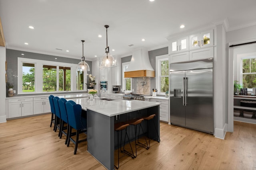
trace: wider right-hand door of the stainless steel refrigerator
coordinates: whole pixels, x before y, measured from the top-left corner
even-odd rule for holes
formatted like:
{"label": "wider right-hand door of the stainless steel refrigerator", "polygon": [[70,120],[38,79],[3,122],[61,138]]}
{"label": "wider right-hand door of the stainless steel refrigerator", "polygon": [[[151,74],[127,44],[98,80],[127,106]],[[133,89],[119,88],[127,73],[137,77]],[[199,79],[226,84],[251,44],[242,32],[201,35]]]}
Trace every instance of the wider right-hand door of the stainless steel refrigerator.
{"label": "wider right-hand door of the stainless steel refrigerator", "polygon": [[186,71],[186,127],[213,133],[212,68]]}

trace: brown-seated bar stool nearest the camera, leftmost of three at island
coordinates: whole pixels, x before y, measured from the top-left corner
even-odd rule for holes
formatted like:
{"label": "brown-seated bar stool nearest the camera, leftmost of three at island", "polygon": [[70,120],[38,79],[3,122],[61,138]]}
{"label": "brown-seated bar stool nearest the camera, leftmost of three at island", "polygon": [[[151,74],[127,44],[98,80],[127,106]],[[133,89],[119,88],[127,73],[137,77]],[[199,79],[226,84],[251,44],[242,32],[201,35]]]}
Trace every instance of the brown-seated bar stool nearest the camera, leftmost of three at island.
{"label": "brown-seated bar stool nearest the camera, leftmost of three at island", "polygon": [[[133,153],[133,150],[132,150],[132,145],[130,143],[130,139],[129,139],[128,134],[127,134],[127,127],[128,126],[129,126],[129,124],[128,123],[124,123],[124,122],[116,123],[114,125],[114,129],[117,132],[117,147],[118,147],[118,166],[115,165],[116,169],[119,168],[119,132],[120,131],[121,131],[120,151],[123,152],[125,155],[131,156],[132,158],[134,158],[134,153]],[[125,150],[124,147],[123,147],[123,150],[121,149],[122,148],[122,131],[123,130],[125,130],[124,145],[125,145],[125,139],[126,139],[126,136],[127,136],[129,144],[130,144],[130,147],[131,147],[131,150],[132,150],[132,154],[130,152],[128,152],[127,150]]]}

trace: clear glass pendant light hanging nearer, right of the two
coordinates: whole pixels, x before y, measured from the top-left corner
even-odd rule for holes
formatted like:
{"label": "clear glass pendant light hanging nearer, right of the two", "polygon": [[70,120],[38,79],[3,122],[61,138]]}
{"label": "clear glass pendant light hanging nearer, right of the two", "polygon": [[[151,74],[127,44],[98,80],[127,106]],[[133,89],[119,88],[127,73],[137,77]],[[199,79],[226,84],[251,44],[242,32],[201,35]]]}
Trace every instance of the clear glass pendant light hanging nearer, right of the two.
{"label": "clear glass pendant light hanging nearer, right of the two", "polygon": [[107,35],[107,47],[105,49],[105,54],[103,57],[100,59],[100,66],[103,67],[112,67],[116,66],[116,61],[114,57],[109,53],[109,47],[108,47],[108,25],[104,26],[106,28],[106,35]]}

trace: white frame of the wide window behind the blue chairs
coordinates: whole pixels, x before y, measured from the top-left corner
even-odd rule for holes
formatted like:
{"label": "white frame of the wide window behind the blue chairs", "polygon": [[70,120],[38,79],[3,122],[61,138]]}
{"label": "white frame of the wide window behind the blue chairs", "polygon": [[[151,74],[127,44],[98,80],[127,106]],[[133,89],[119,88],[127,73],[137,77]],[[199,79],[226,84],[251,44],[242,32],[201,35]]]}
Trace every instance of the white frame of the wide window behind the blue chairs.
{"label": "white frame of the wide window behind the blue chairs", "polygon": [[[22,92],[22,63],[32,63],[35,64],[35,91],[34,92]],[[87,91],[87,76],[86,71],[84,71],[84,89],[83,90],[77,90],[77,82],[76,82],[76,66],[77,64],[71,64],[71,63],[61,63],[61,62],[56,62],[56,61],[45,61],[45,60],[37,60],[37,59],[28,59],[28,58],[23,58],[23,57],[18,57],[18,91],[17,94],[46,94],[49,92],[43,92],[43,65],[52,65],[57,67],[57,72],[56,72],[56,84],[57,84],[57,90],[51,93],[65,93],[65,92],[81,92],[81,91]],[[70,86],[71,90],[70,91],[59,91],[59,66],[64,66],[64,67],[70,67]]]}

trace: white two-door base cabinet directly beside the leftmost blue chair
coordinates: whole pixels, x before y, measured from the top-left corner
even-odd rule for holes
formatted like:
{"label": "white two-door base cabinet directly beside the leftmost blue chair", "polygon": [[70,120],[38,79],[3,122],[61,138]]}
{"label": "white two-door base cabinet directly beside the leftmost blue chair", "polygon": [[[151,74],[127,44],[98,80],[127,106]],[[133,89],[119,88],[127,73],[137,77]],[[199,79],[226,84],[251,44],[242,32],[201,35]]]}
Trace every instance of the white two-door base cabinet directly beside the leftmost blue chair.
{"label": "white two-door base cabinet directly beside the leftmost blue chair", "polygon": [[34,98],[34,115],[40,113],[51,112],[50,102],[48,97],[35,97]]}

